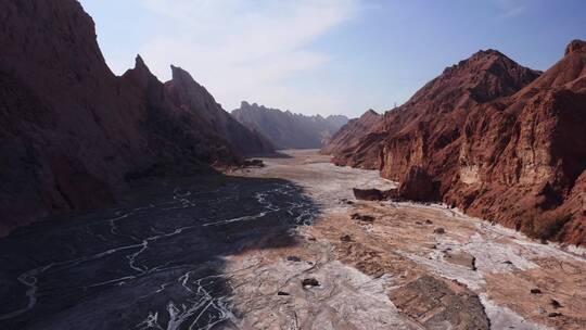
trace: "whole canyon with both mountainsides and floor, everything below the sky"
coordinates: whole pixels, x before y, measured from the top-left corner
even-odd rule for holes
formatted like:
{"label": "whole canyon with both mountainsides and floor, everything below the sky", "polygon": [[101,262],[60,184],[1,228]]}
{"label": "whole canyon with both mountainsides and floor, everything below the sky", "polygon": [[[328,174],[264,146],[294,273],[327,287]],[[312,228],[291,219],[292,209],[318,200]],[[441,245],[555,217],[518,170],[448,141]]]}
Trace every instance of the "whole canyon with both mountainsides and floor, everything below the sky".
{"label": "whole canyon with both mountainsides and floor, everything below the sky", "polygon": [[349,120],[115,75],[76,0],[0,59],[0,329],[586,328],[586,41]]}

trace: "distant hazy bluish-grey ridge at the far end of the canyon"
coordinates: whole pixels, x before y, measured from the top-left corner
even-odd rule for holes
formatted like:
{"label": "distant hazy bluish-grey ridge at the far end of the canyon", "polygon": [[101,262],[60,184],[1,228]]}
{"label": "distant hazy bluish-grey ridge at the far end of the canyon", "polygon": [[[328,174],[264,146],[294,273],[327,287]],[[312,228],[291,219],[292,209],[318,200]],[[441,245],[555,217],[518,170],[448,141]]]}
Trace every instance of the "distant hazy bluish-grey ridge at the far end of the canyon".
{"label": "distant hazy bluish-grey ridge at the far end of the canyon", "polygon": [[345,116],[304,116],[289,111],[242,102],[232,115],[259,131],[278,149],[319,149],[348,122]]}

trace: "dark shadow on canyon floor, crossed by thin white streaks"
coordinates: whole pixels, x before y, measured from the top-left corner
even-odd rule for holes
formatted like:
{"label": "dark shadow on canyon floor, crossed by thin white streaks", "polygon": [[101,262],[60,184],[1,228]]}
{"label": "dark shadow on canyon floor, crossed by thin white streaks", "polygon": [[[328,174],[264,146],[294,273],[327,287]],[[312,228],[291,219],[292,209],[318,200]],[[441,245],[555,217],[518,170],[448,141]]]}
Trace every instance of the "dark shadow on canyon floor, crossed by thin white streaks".
{"label": "dark shadow on canyon floor, crossed by thin white streaks", "polygon": [[291,181],[206,176],[17,229],[0,239],[0,328],[230,328],[222,256],[295,244],[318,208]]}

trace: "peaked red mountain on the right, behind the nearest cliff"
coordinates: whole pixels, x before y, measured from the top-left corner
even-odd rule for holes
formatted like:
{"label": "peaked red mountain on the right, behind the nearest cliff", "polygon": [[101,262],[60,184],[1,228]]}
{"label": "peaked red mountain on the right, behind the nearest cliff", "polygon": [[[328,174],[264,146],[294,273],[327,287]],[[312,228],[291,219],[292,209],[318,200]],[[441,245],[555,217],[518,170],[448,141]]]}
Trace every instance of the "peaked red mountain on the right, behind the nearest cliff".
{"label": "peaked red mountain on the right, behind the nearest cliff", "polygon": [[442,180],[457,166],[462,127],[471,109],[507,97],[534,80],[538,73],[522,67],[498,51],[480,51],[448,67],[405,105],[385,115],[380,168],[400,179],[421,166]]}

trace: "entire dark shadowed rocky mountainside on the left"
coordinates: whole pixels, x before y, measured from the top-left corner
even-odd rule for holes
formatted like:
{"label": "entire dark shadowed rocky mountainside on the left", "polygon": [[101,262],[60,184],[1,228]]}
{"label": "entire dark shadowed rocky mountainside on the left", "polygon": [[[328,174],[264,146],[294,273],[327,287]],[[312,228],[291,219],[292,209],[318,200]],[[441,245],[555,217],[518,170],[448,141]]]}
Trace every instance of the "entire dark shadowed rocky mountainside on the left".
{"label": "entire dark shadowed rocky mountainside on the left", "polygon": [[[165,86],[140,58],[115,76],[77,1],[0,2],[0,231],[111,203],[133,179],[240,160],[209,122],[238,125],[203,88],[181,81],[189,94],[176,98],[179,78]],[[216,113],[186,109],[190,98]],[[267,148],[251,141],[237,147]]]}

